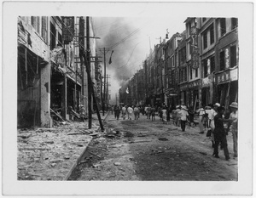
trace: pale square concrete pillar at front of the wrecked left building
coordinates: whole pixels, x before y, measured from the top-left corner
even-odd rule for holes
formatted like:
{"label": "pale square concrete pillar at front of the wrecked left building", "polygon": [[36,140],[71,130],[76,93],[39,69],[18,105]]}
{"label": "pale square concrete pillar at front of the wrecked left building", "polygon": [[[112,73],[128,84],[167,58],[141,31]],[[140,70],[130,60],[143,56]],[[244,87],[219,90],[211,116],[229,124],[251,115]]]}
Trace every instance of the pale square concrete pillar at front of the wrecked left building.
{"label": "pale square concrete pillar at front of the wrecked left building", "polygon": [[41,126],[51,127],[50,125],[50,64],[45,65],[40,70],[41,75]]}

